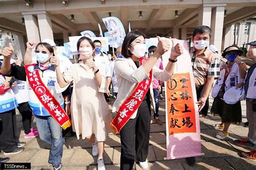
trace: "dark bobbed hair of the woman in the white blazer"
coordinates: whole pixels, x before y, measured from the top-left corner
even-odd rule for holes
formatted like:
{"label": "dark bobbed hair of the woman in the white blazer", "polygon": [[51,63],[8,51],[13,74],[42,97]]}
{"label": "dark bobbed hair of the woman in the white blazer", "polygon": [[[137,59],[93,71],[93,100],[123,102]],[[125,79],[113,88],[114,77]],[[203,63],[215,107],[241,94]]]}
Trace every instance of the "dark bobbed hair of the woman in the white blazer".
{"label": "dark bobbed hair of the woman in the white blazer", "polygon": [[130,58],[132,56],[132,53],[129,50],[129,45],[134,39],[138,38],[139,36],[143,36],[144,38],[146,38],[146,35],[139,30],[134,30],[126,34],[122,45],[122,55],[125,58]]}

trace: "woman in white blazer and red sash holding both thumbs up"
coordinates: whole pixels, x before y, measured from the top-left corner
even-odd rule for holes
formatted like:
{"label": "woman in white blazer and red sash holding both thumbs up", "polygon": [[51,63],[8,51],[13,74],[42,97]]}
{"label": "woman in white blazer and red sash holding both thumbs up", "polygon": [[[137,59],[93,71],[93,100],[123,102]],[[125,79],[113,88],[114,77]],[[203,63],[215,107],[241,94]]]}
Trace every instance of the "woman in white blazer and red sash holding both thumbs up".
{"label": "woman in white blazer and red sash holding both thumbs up", "polygon": [[[156,52],[148,60],[144,60],[145,37],[138,30],[127,33],[122,46],[124,58],[118,58],[114,65],[119,91],[112,109],[112,112],[117,112],[117,116],[111,122],[111,128],[116,133],[120,132],[120,169],[132,169],[135,157],[143,169],[148,167],[146,159],[153,97],[152,75],[161,81],[170,80],[177,57],[183,53],[180,44],[173,45],[170,62],[164,70],[160,70],[154,65],[169,50],[170,39],[158,37]],[[154,103],[153,100],[152,102]]]}

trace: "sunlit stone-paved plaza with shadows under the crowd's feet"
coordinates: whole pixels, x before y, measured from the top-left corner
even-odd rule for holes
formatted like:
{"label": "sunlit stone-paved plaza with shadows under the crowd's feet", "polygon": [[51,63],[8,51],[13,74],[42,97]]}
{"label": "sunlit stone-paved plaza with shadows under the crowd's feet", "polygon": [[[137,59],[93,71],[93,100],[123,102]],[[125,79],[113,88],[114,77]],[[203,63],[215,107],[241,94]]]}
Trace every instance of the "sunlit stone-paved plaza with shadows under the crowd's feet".
{"label": "sunlit stone-paved plaza with shadows under the crowd's feet", "polygon": [[[212,104],[212,99],[210,103]],[[165,122],[165,101],[160,101],[160,119]],[[242,122],[245,118],[245,101],[242,101]],[[256,162],[240,157],[245,148],[234,145],[233,139],[247,136],[248,128],[242,125],[231,125],[230,137],[226,140],[215,138],[219,130],[212,128],[212,124],[220,122],[219,117],[207,116],[200,118],[202,155],[197,157],[197,164],[193,167],[186,164],[185,159],[165,160],[166,133],[165,123],[151,124],[149,169],[256,169]],[[25,141],[25,150],[17,155],[11,155],[9,162],[31,162],[32,169],[52,169],[48,164],[50,145],[37,138],[25,139],[22,130],[22,117],[17,115],[18,132],[20,141]],[[35,124],[33,124],[35,126]],[[193,147],[193,146],[191,146]],[[106,169],[119,169],[120,166],[120,136],[112,133],[105,143],[104,161]],[[86,140],[77,140],[70,133],[66,135],[62,169],[97,169],[97,157],[92,157],[92,146]],[[3,153],[0,157],[4,157]],[[141,169],[137,165],[137,169]]]}

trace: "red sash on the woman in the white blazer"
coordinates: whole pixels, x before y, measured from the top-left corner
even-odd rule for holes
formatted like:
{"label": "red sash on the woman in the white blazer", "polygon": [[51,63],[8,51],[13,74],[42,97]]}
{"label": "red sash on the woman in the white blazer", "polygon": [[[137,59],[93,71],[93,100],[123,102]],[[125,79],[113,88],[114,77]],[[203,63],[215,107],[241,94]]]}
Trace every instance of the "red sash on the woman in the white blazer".
{"label": "red sash on the woman in the white blazer", "polygon": [[[139,60],[139,65],[141,66],[144,59]],[[147,94],[147,90],[150,88],[152,81],[152,70],[150,71],[150,77],[148,80],[143,80],[138,83],[136,89],[133,91],[130,97],[128,97],[124,103],[120,106],[117,116],[114,117],[110,123],[110,128],[114,130],[114,134],[120,132],[123,126],[129,121],[134,112],[142,104],[144,97]]]}

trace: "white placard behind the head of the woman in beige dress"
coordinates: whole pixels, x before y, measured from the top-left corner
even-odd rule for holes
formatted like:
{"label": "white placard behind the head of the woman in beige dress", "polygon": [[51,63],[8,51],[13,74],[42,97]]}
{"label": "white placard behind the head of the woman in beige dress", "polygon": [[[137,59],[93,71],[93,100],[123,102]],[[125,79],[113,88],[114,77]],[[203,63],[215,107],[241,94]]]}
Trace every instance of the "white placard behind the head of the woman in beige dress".
{"label": "white placard behind the head of the woman in beige dress", "polygon": [[[69,37],[71,53],[79,54],[77,51],[77,41],[81,37],[83,37],[83,36]],[[109,51],[109,38],[107,38],[107,37],[91,37],[90,39],[92,40],[92,42],[94,40],[100,40],[100,42],[102,42],[102,50],[101,51],[103,51],[103,52]],[[73,55],[75,55],[75,54],[73,54]]]}

